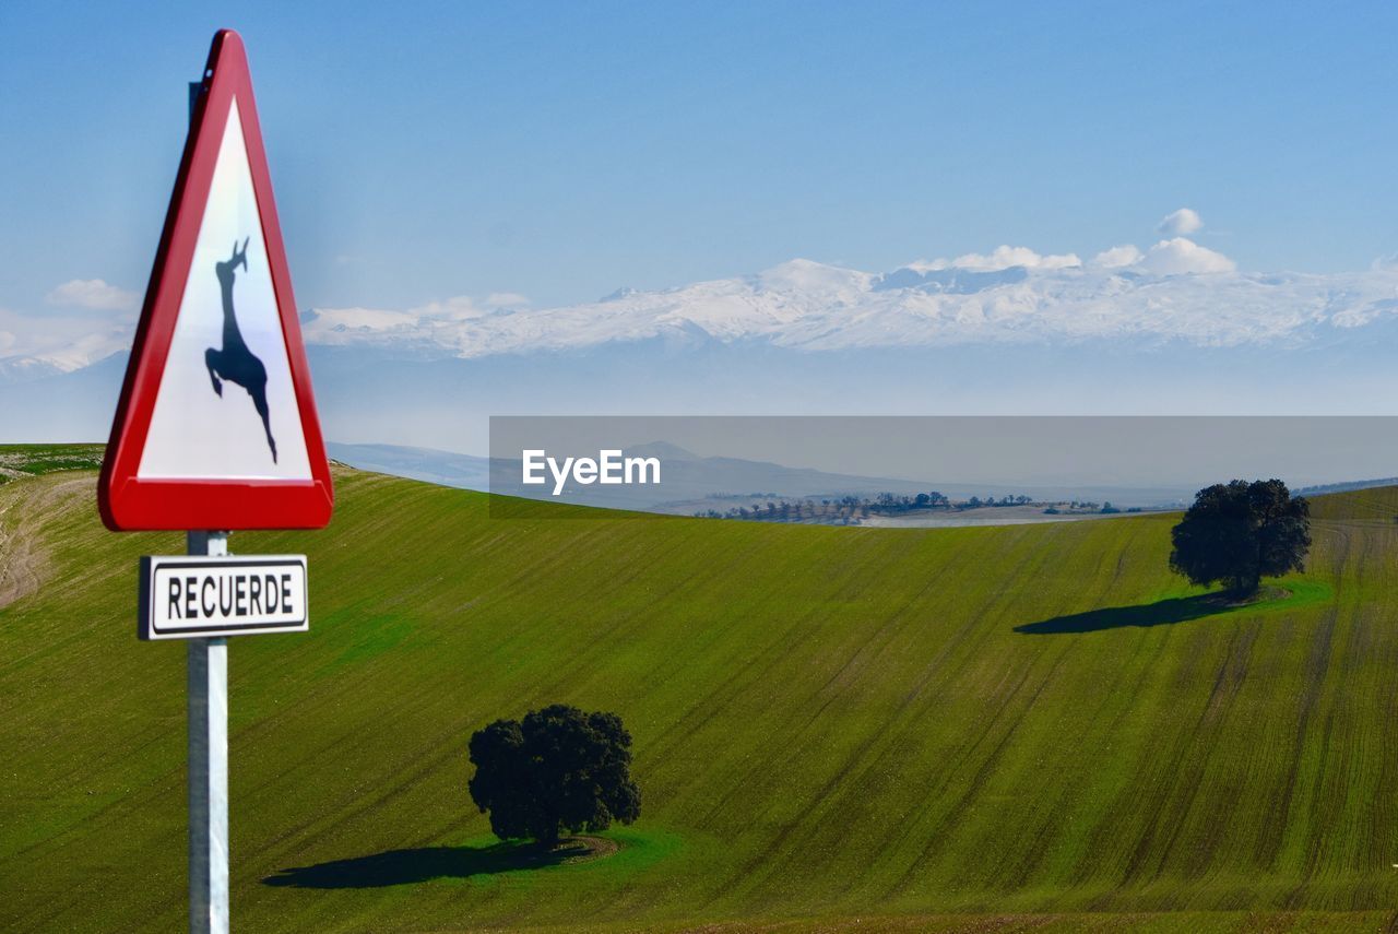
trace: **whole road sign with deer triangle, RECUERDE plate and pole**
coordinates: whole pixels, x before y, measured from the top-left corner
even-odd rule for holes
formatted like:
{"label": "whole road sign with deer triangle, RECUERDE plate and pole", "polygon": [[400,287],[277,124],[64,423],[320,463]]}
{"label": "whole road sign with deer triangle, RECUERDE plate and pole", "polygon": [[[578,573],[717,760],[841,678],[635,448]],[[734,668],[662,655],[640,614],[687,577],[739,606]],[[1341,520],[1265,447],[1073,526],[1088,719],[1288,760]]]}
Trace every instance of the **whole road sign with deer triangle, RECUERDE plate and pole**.
{"label": "whole road sign with deer triangle, RECUERDE plate and pole", "polygon": [[334,488],[247,56],[214,36],[98,481],[113,531],[183,529],[143,558],[140,635],[187,639],[189,924],[228,933],[228,640],[308,628],[302,555],[229,558],[233,529],[320,529]]}

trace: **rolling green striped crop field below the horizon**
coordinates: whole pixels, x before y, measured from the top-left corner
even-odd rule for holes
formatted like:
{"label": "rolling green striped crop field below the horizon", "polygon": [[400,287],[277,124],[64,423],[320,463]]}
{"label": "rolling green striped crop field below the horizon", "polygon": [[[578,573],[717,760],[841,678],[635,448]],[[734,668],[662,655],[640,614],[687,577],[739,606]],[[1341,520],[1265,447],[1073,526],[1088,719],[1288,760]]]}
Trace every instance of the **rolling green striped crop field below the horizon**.
{"label": "rolling green striped crop field below the horizon", "polygon": [[[590,513],[340,471],[308,635],[229,652],[233,924],[1385,930],[1398,489],[1316,501],[1289,597],[1218,611],[1172,516],[878,530]],[[185,924],[185,647],[138,643],[95,474],[0,487],[0,928]],[[622,714],[643,817],[538,867],[466,741]]]}

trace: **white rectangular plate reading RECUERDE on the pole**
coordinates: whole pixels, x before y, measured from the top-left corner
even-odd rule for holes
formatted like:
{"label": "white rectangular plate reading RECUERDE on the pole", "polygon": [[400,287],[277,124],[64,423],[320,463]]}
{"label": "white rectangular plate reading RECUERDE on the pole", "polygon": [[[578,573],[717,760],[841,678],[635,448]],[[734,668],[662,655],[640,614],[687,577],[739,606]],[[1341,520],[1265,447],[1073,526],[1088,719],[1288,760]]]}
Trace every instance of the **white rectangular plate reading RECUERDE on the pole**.
{"label": "white rectangular plate reading RECUERDE on the pole", "polygon": [[309,628],[305,555],[141,558],[141,639]]}

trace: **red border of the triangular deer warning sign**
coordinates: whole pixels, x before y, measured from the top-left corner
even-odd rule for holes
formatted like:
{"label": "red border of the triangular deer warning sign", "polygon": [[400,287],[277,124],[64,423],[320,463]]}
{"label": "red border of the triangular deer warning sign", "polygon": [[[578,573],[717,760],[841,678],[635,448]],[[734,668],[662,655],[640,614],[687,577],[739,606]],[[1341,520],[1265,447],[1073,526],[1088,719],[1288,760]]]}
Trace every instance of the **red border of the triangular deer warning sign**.
{"label": "red border of the triangular deer warning sign", "polygon": [[[334,485],[310,389],[310,368],[301,340],[296,299],[291,291],[281,225],[267,172],[257,106],[242,38],[232,29],[214,36],[204,67],[204,89],[194,108],[189,140],[180,159],[175,192],[165,215],[145,305],[136,329],[126,380],[112,421],[112,436],[98,481],[98,509],[113,531],[322,529],[334,509]],[[214,166],[233,101],[243,126],[253,196],[261,218],[263,242],[281,315],[291,382],[301,410],[301,426],[310,460],[306,480],[150,480],[137,477],[141,453],[169,355],[179,306],[185,298],[203,225]]]}

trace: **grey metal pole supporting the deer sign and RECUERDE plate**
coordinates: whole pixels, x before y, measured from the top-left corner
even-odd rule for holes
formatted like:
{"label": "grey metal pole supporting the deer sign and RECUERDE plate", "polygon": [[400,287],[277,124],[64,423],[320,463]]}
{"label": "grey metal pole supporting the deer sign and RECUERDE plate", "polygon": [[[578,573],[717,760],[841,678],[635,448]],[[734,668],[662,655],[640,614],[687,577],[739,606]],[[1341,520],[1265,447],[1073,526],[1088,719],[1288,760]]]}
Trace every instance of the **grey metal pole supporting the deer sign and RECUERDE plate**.
{"label": "grey metal pole supporting the deer sign and RECUERDE plate", "polygon": [[[187,533],[226,555],[228,533]],[[189,930],[228,934],[228,640],[189,640]]]}

